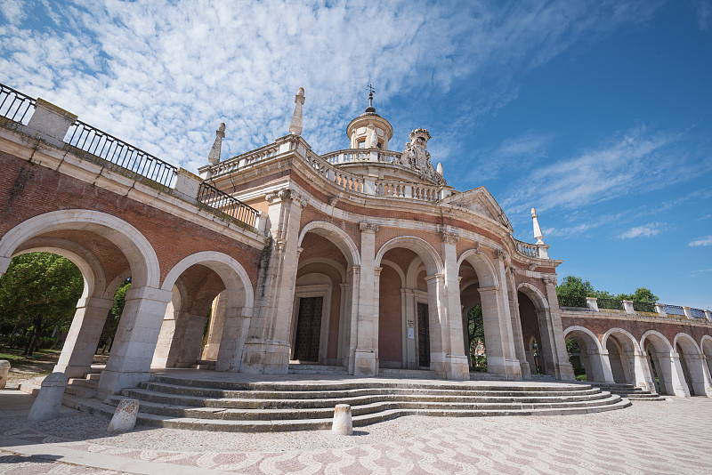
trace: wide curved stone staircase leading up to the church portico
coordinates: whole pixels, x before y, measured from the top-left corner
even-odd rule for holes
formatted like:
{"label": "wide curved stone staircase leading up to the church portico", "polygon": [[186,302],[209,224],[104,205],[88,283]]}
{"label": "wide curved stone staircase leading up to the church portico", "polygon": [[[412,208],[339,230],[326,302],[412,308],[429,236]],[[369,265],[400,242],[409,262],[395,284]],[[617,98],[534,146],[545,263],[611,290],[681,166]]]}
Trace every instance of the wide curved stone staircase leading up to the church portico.
{"label": "wide curved stone staircase leading up to the church portico", "polygon": [[401,415],[568,415],[630,406],[580,384],[535,382],[226,382],[154,375],[110,396],[91,412],[113,415],[121,399],[139,399],[138,423],[201,431],[300,431],[331,427],[336,404],[352,407],[360,427]]}

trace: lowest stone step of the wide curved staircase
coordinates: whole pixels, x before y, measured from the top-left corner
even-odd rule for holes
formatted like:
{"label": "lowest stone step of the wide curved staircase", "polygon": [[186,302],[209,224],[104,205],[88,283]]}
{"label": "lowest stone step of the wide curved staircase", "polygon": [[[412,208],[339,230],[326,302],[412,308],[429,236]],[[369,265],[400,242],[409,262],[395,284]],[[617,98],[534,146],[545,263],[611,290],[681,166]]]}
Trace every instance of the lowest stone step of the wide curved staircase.
{"label": "lowest stone step of the wide curved staircase", "polygon": [[[611,398],[616,398],[611,396]],[[622,409],[631,405],[627,399],[617,399],[615,402],[588,407],[564,408],[536,408],[536,409],[387,409],[368,415],[355,415],[353,426],[362,427],[371,423],[400,417],[402,415],[430,415],[430,416],[459,416],[478,417],[494,415],[580,415]],[[83,409],[84,410],[84,409]],[[111,417],[113,407],[106,404],[86,407],[87,412],[96,415]],[[333,414],[333,413],[332,413]],[[256,432],[256,431],[300,431],[300,430],[326,430],[331,427],[331,416],[323,419],[311,420],[271,420],[271,421],[234,421],[223,419],[196,419],[192,417],[173,417],[166,415],[153,415],[140,412],[138,423],[152,427],[166,427],[174,429],[188,429],[193,431],[230,431],[230,432]]]}

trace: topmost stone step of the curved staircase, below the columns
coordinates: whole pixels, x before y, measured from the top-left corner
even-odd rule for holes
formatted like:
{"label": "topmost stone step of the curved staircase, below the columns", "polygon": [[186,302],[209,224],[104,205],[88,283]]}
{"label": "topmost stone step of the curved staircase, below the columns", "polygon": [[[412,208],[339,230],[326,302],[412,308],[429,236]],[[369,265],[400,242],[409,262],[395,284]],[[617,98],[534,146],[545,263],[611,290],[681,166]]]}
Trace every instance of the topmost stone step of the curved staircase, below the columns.
{"label": "topmost stone step of the curved staircase, below the columns", "polygon": [[[158,381],[154,381],[158,380]],[[513,390],[512,388],[502,388],[494,390],[492,388],[453,388],[452,389],[436,389],[432,386],[424,386],[420,388],[403,388],[398,385],[389,385],[388,387],[360,387],[358,389],[347,390],[320,390],[319,385],[316,385],[316,390],[223,390],[209,387],[186,386],[181,383],[162,382],[163,378],[152,378],[150,382],[142,382],[140,388],[143,390],[154,390],[158,392],[166,392],[182,396],[194,396],[200,398],[212,399],[346,399],[360,396],[374,396],[382,394],[391,395],[412,395],[421,398],[426,397],[462,397],[462,396],[478,396],[478,397],[570,397],[580,396],[586,397],[593,394],[601,394],[602,391],[597,388],[585,388],[582,386],[574,387],[570,390]],[[198,382],[201,383],[201,382]],[[361,384],[363,386],[363,384]],[[300,386],[299,389],[303,389]]]}

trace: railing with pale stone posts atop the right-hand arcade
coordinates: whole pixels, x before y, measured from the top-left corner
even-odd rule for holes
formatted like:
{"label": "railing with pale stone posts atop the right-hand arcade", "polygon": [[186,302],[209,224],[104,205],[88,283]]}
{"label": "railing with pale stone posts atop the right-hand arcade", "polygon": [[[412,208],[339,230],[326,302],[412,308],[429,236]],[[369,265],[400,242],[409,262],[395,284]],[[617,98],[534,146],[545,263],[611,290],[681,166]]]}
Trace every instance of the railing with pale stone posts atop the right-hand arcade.
{"label": "railing with pale stone posts atop the right-hand arcade", "polygon": [[[572,302],[576,302],[576,306],[569,306]],[[586,306],[584,307],[583,304],[583,299],[559,299],[559,305],[565,310],[626,313],[628,315],[641,315],[643,317],[712,323],[712,311],[681,307],[679,305],[667,305],[658,302],[597,299],[595,297],[586,297]]]}

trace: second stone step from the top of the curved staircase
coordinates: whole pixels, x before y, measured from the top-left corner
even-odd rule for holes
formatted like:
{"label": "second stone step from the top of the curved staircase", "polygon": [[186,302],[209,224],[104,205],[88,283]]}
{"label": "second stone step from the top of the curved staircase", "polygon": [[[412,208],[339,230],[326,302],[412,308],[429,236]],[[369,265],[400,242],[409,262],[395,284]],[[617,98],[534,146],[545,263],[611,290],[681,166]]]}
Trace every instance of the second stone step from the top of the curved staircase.
{"label": "second stone step from the top of the curved staircase", "polygon": [[172,404],[187,407],[221,407],[221,408],[245,408],[245,409],[272,409],[272,408],[330,408],[336,404],[349,404],[351,406],[371,404],[375,402],[432,402],[432,403],[458,403],[458,404],[478,404],[478,403],[498,403],[498,404],[554,404],[565,403],[571,399],[579,401],[592,401],[605,399],[609,393],[596,392],[587,395],[567,396],[442,396],[442,395],[413,395],[413,394],[368,394],[364,396],[328,398],[328,399],[234,399],[217,397],[206,397],[206,395],[189,396],[185,394],[176,395],[166,391],[166,386],[147,384],[144,389],[127,389],[122,394],[129,398],[140,399],[147,402],[161,404]]}

